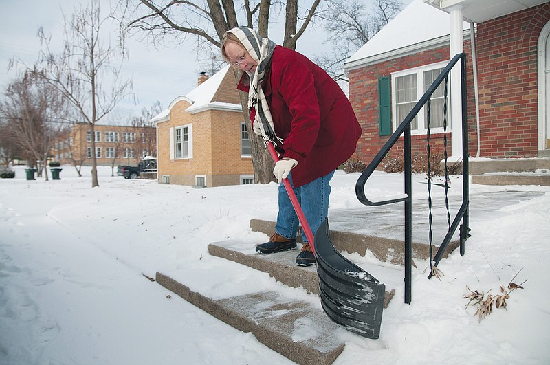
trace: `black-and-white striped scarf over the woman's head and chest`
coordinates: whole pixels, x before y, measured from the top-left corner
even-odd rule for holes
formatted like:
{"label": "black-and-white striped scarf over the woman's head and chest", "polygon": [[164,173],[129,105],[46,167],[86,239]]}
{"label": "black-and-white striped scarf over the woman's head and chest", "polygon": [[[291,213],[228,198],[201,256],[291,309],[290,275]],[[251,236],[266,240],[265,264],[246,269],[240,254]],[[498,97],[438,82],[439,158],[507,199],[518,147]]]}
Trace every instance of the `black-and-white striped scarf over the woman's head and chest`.
{"label": "black-and-white striped scarf over the woman's head and chest", "polygon": [[282,145],[281,138],[278,138],[275,134],[270,106],[267,104],[265,94],[261,88],[263,79],[265,78],[265,71],[270,65],[276,44],[269,38],[262,38],[255,30],[248,27],[234,27],[232,30],[228,30],[228,32],[233,33],[239,38],[246,52],[258,63],[254,75],[248,75],[250,77],[248,110],[250,111],[252,108],[256,110],[254,124],[259,123],[262,136],[265,140],[274,142],[276,146]]}

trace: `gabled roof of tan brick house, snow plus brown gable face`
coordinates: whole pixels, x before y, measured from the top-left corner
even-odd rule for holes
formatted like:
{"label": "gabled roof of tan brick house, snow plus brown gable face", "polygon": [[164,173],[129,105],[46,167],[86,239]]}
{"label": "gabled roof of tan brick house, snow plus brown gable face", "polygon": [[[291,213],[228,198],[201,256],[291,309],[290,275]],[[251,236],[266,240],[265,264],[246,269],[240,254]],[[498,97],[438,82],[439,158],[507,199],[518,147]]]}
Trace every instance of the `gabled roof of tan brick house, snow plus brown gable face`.
{"label": "gabled roof of tan brick house, snow plus brown gable face", "polygon": [[151,118],[151,122],[166,122],[170,120],[170,111],[180,101],[191,104],[186,111],[188,113],[200,113],[206,110],[242,111],[239,103],[239,95],[236,91],[236,80],[230,71],[229,65],[223,67],[214,76],[208,78],[201,85],[192,89],[184,96],[177,96],[168,109],[164,109],[158,115]]}

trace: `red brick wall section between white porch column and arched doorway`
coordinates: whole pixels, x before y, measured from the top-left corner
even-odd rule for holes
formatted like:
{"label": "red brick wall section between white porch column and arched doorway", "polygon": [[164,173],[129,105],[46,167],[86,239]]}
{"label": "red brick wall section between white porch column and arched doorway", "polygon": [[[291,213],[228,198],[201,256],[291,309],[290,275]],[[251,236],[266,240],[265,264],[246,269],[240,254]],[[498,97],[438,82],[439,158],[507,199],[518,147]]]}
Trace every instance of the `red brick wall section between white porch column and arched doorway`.
{"label": "red brick wall section between white porch column and arched doorway", "polygon": [[546,3],[478,25],[482,157],[537,155],[537,42],[549,19]]}

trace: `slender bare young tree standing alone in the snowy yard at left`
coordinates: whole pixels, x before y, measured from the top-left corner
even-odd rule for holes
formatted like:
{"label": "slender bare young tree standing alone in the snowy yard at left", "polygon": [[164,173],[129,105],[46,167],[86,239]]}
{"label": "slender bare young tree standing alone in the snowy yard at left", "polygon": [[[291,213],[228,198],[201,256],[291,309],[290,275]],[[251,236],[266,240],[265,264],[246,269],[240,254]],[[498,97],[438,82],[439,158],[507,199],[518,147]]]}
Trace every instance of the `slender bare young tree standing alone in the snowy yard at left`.
{"label": "slender bare young tree standing alone in the snowy yard at left", "polygon": [[[43,49],[34,65],[36,75],[61,91],[80,120],[89,125],[91,151],[96,151],[94,126],[131,90],[130,80],[120,80],[122,49],[107,42],[109,19],[102,17],[98,0],[75,9],[70,19],[65,17],[65,39],[59,54],[50,50],[50,38],[39,30]],[[120,60],[118,66],[113,65],[114,60]],[[95,187],[99,186],[95,153],[91,161],[91,186]]]}

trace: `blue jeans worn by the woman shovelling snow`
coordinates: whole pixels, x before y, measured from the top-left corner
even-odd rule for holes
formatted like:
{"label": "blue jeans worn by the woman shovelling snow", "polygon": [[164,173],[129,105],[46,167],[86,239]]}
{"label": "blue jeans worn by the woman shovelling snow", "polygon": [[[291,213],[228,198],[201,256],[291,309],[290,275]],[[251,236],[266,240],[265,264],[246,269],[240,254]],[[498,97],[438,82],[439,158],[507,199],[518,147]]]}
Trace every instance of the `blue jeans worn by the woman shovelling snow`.
{"label": "blue jeans worn by the woman shovelling snow", "polygon": [[[319,177],[318,179],[311,181],[309,184],[294,188],[292,184],[292,173],[288,175],[288,179],[292,188],[294,188],[294,194],[300,202],[300,206],[309,223],[311,232],[315,235],[317,229],[329,214],[329,195],[331,194],[331,186],[329,182],[334,175],[334,171]],[[279,184],[279,212],[277,214],[277,223],[275,225],[275,232],[287,239],[293,239],[298,232],[298,215],[294,211],[292,201],[288,197],[287,190],[283,183]],[[303,241],[308,242],[305,232],[302,234]]]}

